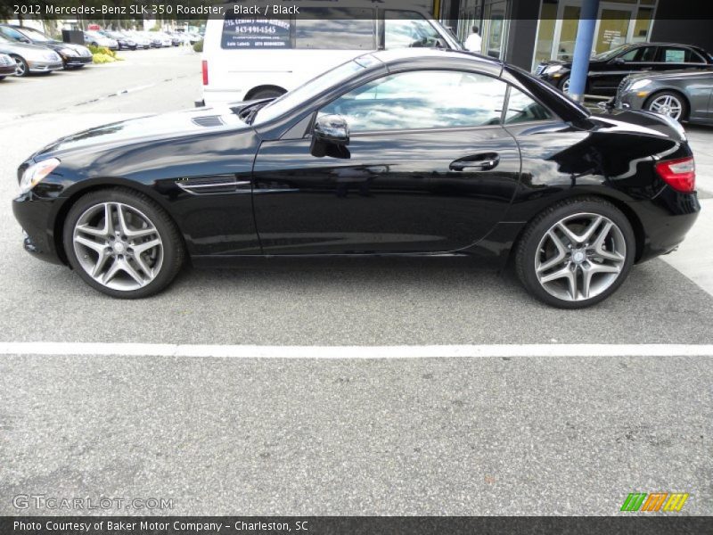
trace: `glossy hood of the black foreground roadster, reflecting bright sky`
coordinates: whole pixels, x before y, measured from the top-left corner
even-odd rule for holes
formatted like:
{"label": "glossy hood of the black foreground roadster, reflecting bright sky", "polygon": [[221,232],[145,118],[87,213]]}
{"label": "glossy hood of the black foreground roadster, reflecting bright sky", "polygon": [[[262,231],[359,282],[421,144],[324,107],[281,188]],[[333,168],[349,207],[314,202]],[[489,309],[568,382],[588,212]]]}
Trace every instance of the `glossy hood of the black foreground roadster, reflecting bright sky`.
{"label": "glossy hood of the black foreground roadster, reflecting bright sky", "polygon": [[128,119],[62,137],[32,155],[35,161],[72,152],[101,151],[146,141],[179,138],[211,131],[249,130],[252,127],[228,107],[196,108]]}

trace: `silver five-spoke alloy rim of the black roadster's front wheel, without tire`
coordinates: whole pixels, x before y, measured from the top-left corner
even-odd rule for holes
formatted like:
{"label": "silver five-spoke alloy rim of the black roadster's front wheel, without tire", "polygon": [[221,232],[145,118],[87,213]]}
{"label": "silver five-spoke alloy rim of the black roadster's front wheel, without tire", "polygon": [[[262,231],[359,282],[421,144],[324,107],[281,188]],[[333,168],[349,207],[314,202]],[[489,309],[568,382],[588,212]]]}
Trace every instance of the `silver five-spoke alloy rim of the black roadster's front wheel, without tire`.
{"label": "silver five-spoke alloy rim of the black roadster's front wheel, without tire", "polygon": [[72,236],[79,264],[102,286],[128,292],[159,275],[159,231],[151,219],[127,204],[95,204],[78,218]]}

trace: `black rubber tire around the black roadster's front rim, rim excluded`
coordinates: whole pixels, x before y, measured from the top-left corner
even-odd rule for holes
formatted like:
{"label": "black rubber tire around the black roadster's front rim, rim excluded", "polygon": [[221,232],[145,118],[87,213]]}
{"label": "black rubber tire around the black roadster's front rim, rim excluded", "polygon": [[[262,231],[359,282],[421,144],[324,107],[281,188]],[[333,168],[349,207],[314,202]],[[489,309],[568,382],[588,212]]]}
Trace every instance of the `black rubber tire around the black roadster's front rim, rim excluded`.
{"label": "black rubber tire around the black roadster's front rim, rim excluded", "polygon": [[[86,210],[103,202],[121,202],[135,210],[140,210],[156,227],[163,245],[163,260],[160,271],[153,280],[135,290],[117,290],[98,283],[80,264],[73,246],[74,227]],[[120,299],[140,299],[148,297],[165,289],[176,277],[184,264],[184,242],[173,220],[156,202],[144,195],[126,188],[102,189],[86,193],[72,206],[64,221],[62,232],[64,251],[70,261],[70,266],[86,284],[99,292]]]}

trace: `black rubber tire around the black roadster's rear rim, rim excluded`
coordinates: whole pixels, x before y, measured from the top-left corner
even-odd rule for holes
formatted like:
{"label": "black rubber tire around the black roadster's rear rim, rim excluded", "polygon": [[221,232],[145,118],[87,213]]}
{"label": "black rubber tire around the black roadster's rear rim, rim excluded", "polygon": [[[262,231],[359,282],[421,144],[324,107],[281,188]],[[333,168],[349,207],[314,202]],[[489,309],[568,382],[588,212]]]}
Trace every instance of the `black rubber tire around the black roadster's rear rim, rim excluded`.
{"label": "black rubber tire around the black roadster's rear rim, rim excluded", "polygon": [[[543,284],[540,284],[536,271],[537,255],[541,252],[538,251],[538,247],[545,238],[545,234],[558,221],[584,213],[604,216],[618,226],[624,243],[626,243],[626,254],[623,255],[624,259],[618,276],[605,290],[589,299],[565,300],[548,292]],[[529,223],[517,244],[515,268],[518,278],[520,278],[520,282],[525,286],[525,289],[538,300],[560,309],[584,309],[607,299],[617,291],[619,286],[626,280],[634,264],[635,250],[634,230],[627,217],[617,207],[611,202],[604,201],[598,197],[578,197],[554,204]]]}

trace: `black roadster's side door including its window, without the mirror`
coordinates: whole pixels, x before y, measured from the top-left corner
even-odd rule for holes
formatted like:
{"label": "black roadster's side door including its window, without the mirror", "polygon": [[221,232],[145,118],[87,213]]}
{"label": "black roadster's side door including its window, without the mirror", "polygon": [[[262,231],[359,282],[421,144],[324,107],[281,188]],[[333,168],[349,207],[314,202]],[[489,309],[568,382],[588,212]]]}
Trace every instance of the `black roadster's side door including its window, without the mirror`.
{"label": "black roadster's side door including its window, without the mirror", "polygon": [[386,75],[317,111],[348,121],[341,157],[309,135],[265,142],[253,203],[266,254],[456,251],[503,218],[520,153],[501,125],[506,84],[461,70]]}

